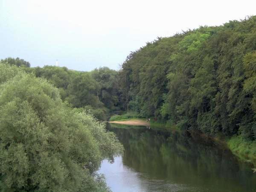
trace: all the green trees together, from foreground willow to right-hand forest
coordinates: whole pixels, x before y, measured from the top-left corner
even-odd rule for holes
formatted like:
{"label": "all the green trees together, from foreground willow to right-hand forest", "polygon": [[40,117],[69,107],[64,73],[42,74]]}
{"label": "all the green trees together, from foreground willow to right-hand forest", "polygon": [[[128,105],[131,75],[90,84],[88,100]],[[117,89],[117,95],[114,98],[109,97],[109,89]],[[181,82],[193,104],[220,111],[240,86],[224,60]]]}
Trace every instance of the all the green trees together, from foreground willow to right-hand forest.
{"label": "all the green trees together, from foreground willow to right-hand forest", "polygon": [[[118,71],[33,68],[20,58],[1,63],[0,189],[104,188],[93,174],[122,146],[96,119],[120,112],[181,130],[256,140],[256,16],[157,38],[131,52]],[[40,166],[29,166],[35,161]]]}

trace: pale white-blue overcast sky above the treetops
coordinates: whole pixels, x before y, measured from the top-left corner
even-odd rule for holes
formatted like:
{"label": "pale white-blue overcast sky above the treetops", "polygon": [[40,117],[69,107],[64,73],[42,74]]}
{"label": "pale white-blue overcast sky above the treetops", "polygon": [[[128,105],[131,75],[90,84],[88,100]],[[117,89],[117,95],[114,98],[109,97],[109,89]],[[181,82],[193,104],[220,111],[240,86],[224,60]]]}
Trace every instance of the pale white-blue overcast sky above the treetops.
{"label": "pale white-blue overcast sky above the treetops", "polygon": [[118,69],[157,37],[256,15],[255,0],[0,0],[0,58]]}

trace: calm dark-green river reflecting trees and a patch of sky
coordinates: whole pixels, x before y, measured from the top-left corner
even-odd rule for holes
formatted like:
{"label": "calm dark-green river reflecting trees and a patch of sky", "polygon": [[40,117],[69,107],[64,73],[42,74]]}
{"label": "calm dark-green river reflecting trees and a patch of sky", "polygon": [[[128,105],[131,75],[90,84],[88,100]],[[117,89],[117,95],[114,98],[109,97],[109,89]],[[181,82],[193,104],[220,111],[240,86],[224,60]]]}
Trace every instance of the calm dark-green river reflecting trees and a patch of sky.
{"label": "calm dark-green river reflecting trees and a patch of sky", "polygon": [[254,192],[252,165],[226,147],[188,133],[108,125],[124,145],[99,173],[113,192]]}

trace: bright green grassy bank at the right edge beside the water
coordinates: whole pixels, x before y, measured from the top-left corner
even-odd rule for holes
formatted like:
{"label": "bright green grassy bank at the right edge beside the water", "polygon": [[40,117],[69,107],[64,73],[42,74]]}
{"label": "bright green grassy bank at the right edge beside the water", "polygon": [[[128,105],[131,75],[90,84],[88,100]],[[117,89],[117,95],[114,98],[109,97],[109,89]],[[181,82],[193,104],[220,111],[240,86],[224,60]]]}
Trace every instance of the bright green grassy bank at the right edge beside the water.
{"label": "bright green grassy bank at the right edge beside the water", "polygon": [[253,163],[256,167],[256,141],[244,140],[241,136],[233,136],[227,140],[230,150],[241,160]]}

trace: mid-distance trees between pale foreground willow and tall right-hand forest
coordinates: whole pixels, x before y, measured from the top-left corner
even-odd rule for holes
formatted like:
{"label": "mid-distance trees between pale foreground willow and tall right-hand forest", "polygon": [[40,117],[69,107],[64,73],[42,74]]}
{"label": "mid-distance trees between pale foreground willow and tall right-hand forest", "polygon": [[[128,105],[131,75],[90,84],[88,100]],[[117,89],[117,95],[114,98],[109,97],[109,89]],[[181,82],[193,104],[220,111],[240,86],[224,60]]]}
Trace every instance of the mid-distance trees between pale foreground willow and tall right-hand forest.
{"label": "mid-distance trees between pale foreground willow and tall right-hand forest", "polygon": [[118,72],[108,67],[91,72],[53,66],[26,68],[26,71],[47,79],[58,87],[61,99],[75,108],[90,110],[97,119],[107,120],[112,112],[120,111]]}

